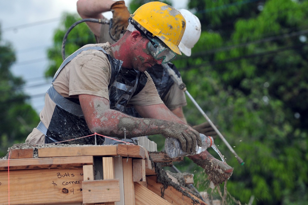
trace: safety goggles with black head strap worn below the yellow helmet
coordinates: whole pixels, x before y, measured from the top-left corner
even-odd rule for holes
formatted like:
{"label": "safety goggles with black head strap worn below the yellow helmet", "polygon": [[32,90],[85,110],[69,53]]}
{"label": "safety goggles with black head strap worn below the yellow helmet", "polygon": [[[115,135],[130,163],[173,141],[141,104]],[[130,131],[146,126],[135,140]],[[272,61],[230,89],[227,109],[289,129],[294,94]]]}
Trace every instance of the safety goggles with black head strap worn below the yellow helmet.
{"label": "safety goggles with black head strap worn below the yellow helmet", "polygon": [[133,28],[135,28],[142,36],[147,37],[150,40],[147,44],[147,49],[156,60],[163,59],[162,64],[166,64],[176,57],[176,53],[168,48],[163,41],[154,36],[151,32],[142,30],[143,27],[136,23],[132,17],[128,19],[128,23],[128,31],[133,31]]}

